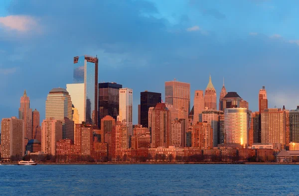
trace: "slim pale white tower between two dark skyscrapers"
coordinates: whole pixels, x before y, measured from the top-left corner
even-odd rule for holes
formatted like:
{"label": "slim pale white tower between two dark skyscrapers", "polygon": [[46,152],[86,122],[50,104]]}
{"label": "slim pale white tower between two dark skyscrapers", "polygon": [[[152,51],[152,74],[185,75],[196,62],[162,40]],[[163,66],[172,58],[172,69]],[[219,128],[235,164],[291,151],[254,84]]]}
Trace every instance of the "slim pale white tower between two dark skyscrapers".
{"label": "slim pale white tower between two dark skyscrapers", "polygon": [[120,121],[128,127],[128,132],[133,135],[133,90],[120,89]]}

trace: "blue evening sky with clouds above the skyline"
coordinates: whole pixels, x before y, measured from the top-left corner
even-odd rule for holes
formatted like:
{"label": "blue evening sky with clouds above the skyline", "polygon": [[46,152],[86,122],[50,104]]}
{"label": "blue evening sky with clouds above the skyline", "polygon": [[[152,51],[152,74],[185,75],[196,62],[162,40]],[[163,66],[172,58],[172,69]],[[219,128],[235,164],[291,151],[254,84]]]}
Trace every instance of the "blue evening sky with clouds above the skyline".
{"label": "blue evening sky with clouds above the skyline", "polygon": [[237,92],[258,109],[299,104],[299,2],[290,0],[1,0],[0,118],[17,116],[24,89],[45,116],[55,87],[72,82],[74,56],[98,55],[99,82],[162,93],[176,78]]}

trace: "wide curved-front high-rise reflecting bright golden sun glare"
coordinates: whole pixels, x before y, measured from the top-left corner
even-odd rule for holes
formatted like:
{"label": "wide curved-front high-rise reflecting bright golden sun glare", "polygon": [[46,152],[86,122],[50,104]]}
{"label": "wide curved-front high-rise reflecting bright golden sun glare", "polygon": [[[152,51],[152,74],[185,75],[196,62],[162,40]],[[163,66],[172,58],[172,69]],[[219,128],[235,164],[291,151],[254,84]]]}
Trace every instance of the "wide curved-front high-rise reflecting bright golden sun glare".
{"label": "wide curved-front high-rise reflecting bright golden sun glare", "polygon": [[224,129],[226,144],[248,146],[248,112],[247,108],[225,108]]}

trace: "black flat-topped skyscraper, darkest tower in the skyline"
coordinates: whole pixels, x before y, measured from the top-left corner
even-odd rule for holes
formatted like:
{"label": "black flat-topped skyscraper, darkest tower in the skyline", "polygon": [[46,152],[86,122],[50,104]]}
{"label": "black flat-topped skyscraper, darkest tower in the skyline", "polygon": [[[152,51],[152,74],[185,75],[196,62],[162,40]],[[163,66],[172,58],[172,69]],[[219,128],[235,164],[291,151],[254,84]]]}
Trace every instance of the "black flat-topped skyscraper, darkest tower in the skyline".
{"label": "black flat-topped skyscraper, darkest tower in the skyline", "polygon": [[161,102],[161,94],[153,92],[140,93],[140,123],[143,127],[149,127],[149,107]]}

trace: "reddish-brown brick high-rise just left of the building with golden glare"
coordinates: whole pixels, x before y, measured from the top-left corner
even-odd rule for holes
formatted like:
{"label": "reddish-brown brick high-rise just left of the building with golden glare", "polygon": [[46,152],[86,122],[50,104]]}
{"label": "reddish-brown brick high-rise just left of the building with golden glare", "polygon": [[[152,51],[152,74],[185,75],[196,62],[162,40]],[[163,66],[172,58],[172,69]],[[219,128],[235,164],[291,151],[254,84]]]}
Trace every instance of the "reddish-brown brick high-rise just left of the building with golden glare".
{"label": "reddish-brown brick high-rise just left of the building with golden glare", "polygon": [[213,148],[213,129],[208,122],[196,122],[191,126],[191,146],[201,149]]}

